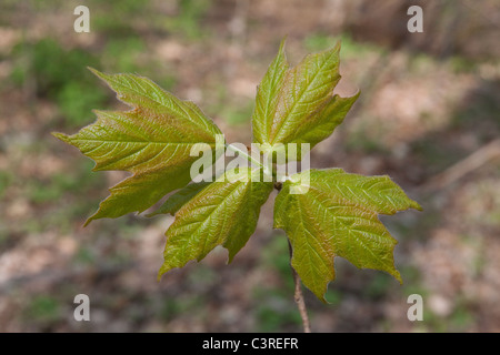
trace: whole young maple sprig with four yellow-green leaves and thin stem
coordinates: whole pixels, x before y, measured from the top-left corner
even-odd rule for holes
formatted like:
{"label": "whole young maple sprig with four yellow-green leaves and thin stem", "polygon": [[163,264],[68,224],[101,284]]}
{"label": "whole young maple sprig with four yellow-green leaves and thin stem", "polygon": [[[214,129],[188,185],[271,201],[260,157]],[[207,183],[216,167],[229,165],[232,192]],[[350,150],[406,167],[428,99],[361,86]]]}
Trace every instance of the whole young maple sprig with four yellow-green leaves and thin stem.
{"label": "whole young maple sprig with four yellow-green leaves and thin stem", "polygon": [[[281,44],[259,85],[252,114],[253,143],[260,143],[264,153],[272,156],[283,144],[314,146],[342,123],[359,93],[350,98],[333,93],[340,80],[339,52],[340,43],[290,68],[284,42]],[[86,224],[141,213],[178,190],[150,214],[176,216],[166,233],[159,276],[191,260],[201,261],[217,245],[229,251],[231,262],[254,232],[260,209],[276,189],[274,227],[288,235],[306,331],[309,325],[300,280],[326,302],[336,256],[360,268],[384,271],[401,282],[393,261],[397,241],[378,215],[421,207],[390,178],[312,169],[290,174],[283,182],[276,166],[262,172],[258,163],[228,170],[214,182],[190,184],[190,169],[198,160],[190,155],[191,149],[204,143],[207,151],[213,151],[219,128],[194,103],[179,100],[147,78],[92,71],[133,109],[96,111],[96,123],[73,135],[54,135],[94,160],[96,171],[133,173],[110,189],[110,196]],[[224,146],[232,149],[226,142]],[[254,161],[246,152],[238,154]]]}

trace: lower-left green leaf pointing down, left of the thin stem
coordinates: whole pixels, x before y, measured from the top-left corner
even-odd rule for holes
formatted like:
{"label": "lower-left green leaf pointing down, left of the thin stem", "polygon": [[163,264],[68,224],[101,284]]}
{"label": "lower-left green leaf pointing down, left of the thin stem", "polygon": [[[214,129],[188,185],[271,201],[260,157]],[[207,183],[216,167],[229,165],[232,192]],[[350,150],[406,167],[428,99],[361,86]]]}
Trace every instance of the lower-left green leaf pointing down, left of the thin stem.
{"label": "lower-left green leaf pointing down, left of the thin stem", "polygon": [[254,174],[260,174],[259,170],[226,172],[176,213],[166,233],[159,276],[190,260],[202,260],[217,245],[224,246],[232,261],[254,232],[260,207],[273,187],[270,182],[257,181]]}

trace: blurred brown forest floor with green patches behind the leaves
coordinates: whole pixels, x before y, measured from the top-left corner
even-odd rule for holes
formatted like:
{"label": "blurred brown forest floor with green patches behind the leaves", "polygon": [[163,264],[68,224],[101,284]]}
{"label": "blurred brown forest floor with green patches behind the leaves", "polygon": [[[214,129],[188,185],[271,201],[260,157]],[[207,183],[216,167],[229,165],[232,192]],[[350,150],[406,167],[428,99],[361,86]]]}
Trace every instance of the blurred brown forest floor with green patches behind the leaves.
{"label": "blurred brown forest floor with green patches behind the leaves", "polygon": [[[316,332],[500,332],[500,6],[414,1],[13,1],[0,6],[0,332],[300,332],[272,199],[226,265],[216,248],[157,282],[170,216],[84,220],[126,175],[50,135],[120,103],[86,68],[137,72],[251,141],[256,87],[287,36],[296,64],[342,40],[341,95],[361,90],[312,168],[389,174],[423,212],[383,219],[391,276],[337,258]],[[76,33],[73,9],[90,9]],[[73,320],[88,294],[91,322]],[[422,322],[407,297],[423,296]]]}

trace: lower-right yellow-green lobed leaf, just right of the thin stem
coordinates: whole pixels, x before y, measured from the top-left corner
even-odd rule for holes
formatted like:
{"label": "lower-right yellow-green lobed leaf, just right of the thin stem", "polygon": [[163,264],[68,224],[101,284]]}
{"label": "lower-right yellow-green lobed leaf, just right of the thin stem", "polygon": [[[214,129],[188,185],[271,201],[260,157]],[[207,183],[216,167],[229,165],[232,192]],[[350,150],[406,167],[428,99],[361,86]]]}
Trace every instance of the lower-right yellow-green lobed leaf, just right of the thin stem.
{"label": "lower-right yellow-green lobed leaf, just right of the thin stem", "polygon": [[[309,174],[307,183],[304,174]],[[274,227],[287,232],[292,266],[303,284],[324,301],[327,285],[334,278],[336,256],[358,267],[388,272],[401,282],[392,255],[397,241],[378,214],[407,209],[421,210],[389,176],[310,170],[284,182],[274,202]]]}

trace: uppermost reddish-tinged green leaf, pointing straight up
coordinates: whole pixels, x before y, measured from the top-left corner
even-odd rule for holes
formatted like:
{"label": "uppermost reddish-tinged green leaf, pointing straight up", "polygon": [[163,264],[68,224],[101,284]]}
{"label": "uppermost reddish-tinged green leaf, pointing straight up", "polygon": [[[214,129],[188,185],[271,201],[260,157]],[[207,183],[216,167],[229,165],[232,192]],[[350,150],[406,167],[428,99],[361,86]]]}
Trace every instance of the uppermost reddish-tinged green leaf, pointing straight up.
{"label": "uppermost reddish-tinged green leaf, pointing straight up", "polygon": [[340,80],[339,51],[340,42],[289,69],[281,43],[259,85],[252,115],[253,142],[263,144],[263,151],[279,143],[310,143],[312,148],[342,122],[359,93],[351,98],[333,94]]}

